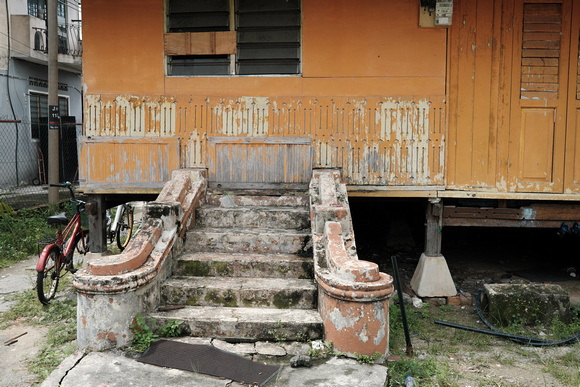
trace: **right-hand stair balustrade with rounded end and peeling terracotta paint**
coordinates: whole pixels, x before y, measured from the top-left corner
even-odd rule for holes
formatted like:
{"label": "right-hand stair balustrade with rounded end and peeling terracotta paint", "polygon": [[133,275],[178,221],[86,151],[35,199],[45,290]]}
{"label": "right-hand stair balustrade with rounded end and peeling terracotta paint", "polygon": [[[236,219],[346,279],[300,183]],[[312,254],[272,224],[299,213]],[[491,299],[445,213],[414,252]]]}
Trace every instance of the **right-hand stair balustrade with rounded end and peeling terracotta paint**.
{"label": "right-hand stair balustrade with rounded end and peeling terracotta paint", "polygon": [[386,354],[393,279],[358,260],[346,186],[336,170],[315,170],[310,211],[318,310],[325,340],[339,352]]}

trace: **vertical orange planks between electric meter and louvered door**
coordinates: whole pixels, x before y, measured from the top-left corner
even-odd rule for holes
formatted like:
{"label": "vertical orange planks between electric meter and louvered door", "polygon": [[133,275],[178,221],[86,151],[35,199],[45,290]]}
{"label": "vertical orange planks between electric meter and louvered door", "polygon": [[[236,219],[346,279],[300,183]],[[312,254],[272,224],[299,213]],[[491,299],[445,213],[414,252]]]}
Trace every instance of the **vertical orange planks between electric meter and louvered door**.
{"label": "vertical orange planks between electric meter and louvered door", "polygon": [[449,164],[452,189],[495,189],[498,162],[500,78],[509,63],[499,45],[509,19],[501,1],[454,4],[450,32]]}

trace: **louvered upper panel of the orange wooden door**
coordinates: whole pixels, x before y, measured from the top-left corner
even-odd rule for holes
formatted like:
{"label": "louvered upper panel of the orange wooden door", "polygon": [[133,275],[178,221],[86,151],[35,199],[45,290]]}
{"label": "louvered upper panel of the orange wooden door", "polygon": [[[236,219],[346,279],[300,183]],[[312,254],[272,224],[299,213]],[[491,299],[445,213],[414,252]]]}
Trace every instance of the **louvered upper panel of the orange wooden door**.
{"label": "louvered upper panel of the orange wooden door", "polygon": [[521,99],[558,99],[562,4],[524,4]]}

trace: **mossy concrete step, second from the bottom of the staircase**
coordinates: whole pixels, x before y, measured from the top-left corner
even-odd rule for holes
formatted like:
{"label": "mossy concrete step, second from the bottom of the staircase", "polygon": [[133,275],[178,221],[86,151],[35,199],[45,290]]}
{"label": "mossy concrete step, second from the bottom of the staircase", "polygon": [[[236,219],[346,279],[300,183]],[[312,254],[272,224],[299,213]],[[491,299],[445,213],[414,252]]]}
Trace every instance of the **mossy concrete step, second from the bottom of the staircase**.
{"label": "mossy concrete step, second from the bottom of the staircase", "polygon": [[180,277],[161,288],[164,305],[228,306],[278,309],[316,308],[313,280],[237,277]]}

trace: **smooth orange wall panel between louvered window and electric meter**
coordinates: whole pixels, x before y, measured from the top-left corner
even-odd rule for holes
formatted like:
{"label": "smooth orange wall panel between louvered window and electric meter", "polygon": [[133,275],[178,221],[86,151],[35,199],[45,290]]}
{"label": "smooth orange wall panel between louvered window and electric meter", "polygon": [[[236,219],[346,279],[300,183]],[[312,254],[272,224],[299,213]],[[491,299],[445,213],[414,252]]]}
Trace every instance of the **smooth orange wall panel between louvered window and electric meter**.
{"label": "smooth orange wall panel between louvered window and electric meter", "polygon": [[304,1],[303,10],[304,77],[445,76],[446,31],[417,27],[418,1]]}

